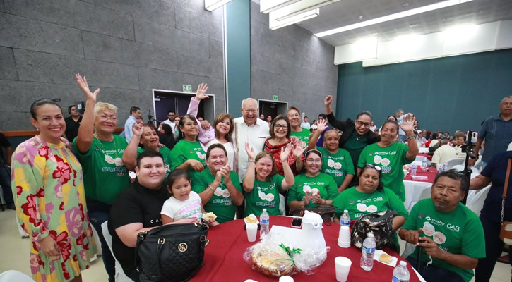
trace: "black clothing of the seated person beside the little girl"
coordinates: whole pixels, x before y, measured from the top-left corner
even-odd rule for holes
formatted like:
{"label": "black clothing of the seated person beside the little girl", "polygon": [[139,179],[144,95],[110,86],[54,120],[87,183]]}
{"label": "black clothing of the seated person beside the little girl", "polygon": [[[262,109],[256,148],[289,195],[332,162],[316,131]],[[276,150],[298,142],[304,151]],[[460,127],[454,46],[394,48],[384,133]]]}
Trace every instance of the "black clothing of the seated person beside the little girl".
{"label": "black clothing of the seated person beside the little girl", "polygon": [[171,195],[165,185],[159,190],[150,190],[136,180],[130,188],[119,193],[112,204],[108,223],[112,235],[112,251],[126,274],[133,273],[135,269],[135,247],[124,245],[115,232],[116,228],[130,223],[142,223],[143,228],[161,226],[160,212],[169,197]]}

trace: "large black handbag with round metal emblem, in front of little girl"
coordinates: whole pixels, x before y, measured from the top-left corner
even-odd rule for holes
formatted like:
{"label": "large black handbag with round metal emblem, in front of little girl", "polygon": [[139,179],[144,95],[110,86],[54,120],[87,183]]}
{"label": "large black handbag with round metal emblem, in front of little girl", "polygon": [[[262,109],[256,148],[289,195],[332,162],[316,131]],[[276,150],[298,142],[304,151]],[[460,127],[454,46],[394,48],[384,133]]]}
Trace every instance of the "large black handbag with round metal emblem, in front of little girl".
{"label": "large black handbag with round metal emblem, in front of little girl", "polygon": [[135,266],[141,282],[188,281],[204,264],[206,223],[168,224],[138,233]]}

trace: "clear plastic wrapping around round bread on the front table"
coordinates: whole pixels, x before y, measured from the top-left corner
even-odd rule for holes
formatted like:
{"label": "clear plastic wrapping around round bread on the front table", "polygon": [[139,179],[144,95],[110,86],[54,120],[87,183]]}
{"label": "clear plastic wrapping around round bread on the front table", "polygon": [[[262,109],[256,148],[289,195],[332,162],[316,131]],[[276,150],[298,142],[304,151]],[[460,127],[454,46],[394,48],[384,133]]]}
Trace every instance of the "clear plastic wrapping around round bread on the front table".
{"label": "clear plastic wrapping around round bread on the front table", "polygon": [[285,236],[270,233],[259,243],[248,247],[244,260],[252,269],[269,276],[285,276],[299,271],[314,274],[327,258],[330,247],[322,249],[297,249]]}

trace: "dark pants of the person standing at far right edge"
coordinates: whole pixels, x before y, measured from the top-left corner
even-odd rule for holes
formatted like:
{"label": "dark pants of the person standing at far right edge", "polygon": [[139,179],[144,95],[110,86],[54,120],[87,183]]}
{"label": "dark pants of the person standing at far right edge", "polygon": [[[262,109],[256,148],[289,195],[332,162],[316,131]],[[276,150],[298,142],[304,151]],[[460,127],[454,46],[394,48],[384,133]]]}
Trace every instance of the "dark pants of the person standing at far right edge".
{"label": "dark pants of the person standing at far right edge", "polygon": [[[504,243],[499,240],[500,224],[480,217],[485,235],[485,257],[478,259],[478,265],[475,269],[475,282],[488,282],[491,279],[492,271],[496,265],[496,259],[501,256]],[[508,256],[508,263],[512,264],[512,259]]]}

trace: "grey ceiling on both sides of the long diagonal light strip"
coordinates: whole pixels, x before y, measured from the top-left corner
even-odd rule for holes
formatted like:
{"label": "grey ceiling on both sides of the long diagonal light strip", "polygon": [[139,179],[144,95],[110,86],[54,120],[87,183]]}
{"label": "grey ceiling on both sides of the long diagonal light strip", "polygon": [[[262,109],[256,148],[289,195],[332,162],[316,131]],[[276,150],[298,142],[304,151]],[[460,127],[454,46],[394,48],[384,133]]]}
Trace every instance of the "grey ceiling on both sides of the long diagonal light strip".
{"label": "grey ceiling on both sides of the long diagonal light strip", "polygon": [[[312,33],[351,25],[392,13],[407,11],[440,0],[342,0],[320,8],[320,16],[299,23]],[[406,4],[407,3],[407,4]],[[473,0],[456,6],[421,13],[407,18],[370,25],[322,37],[333,46],[351,44],[374,35],[391,40],[400,35],[424,35],[463,24],[482,24],[512,19],[512,0]]]}

